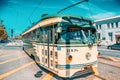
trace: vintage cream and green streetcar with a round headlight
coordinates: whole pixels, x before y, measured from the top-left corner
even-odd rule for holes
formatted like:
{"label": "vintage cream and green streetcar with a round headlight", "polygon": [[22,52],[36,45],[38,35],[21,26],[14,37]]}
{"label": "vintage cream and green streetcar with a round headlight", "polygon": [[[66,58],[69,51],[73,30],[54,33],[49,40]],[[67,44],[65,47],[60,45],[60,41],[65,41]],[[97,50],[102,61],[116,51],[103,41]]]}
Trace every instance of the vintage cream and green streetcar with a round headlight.
{"label": "vintage cream and green streetcar with a round headlight", "polygon": [[23,32],[23,49],[60,77],[97,72],[97,35],[92,20],[72,15],[45,15]]}

